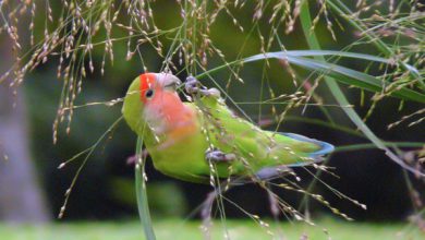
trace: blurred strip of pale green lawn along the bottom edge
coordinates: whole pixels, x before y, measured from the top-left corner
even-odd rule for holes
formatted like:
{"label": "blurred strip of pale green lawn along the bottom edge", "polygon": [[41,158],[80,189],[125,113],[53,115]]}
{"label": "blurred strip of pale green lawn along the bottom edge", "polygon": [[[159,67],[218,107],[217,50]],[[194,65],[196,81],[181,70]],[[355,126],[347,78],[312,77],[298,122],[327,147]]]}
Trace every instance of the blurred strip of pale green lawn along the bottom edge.
{"label": "blurred strip of pale green lawn along the bottom edge", "polygon": [[[231,239],[257,240],[269,239],[266,230],[246,220],[227,220],[227,229]],[[155,221],[158,239],[202,239],[198,221],[185,221],[181,219],[160,219]],[[223,229],[219,221],[215,223],[212,239],[223,239]],[[423,239],[423,232],[413,227],[405,228],[399,224],[371,224],[371,223],[344,223],[328,218],[317,221],[317,226],[301,223],[271,224],[272,229],[279,228],[280,233],[287,239],[343,239],[343,240],[396,240],[396,239]],[[1,226],[0,232],[8,240],[44,239],[53,240],[60,236],[61,240],[139,240],[143,238],[139,223],[78,223],[66,225],[12,227]],[[327,233],[326,233],[327,232]]]}

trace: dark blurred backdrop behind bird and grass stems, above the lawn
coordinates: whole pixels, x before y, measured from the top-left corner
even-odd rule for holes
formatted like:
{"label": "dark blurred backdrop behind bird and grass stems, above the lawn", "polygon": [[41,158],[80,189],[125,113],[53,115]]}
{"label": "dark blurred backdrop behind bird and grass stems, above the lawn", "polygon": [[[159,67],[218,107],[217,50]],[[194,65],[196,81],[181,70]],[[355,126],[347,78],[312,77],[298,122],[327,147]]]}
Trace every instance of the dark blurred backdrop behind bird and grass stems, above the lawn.
{"label": "dark blurred backdrop behind bird and grass stems, above the lawn", "polygon": [[[60,11],[60,1],[52,3],[53,12]],[[351,1],[345,1],[351,4]],[[313,5],[313,11],[318,11],[317,5]],[[179,24],[174,22],[179,15],[175,11],[177,3],[170,1],[158,1],[155,3],[157,13],[157,24],[163,27],[172,27]],[[377,10],[385,11],[385,4],[376,7]],[[252,22],[252,9],[240,10],[238,20],[242,26]],[[42,22],[44,16],[36,22]],[[120,17],[124,17],[120,15]],[[332,21],[340,21],[333,19]],[[179,20],[180,21],[180,20]],[[25,21],[22,22],[24,24]],[[267,20],[262,22],[267,32]],[[320,20],[316,26],[316,33],[323,44],[323,49],[340,50],[344,46],[356,39],[357,32],[340,22],[343,26],[336,27],[337,41],[332,40],[330,33],[326,29],[326,22]],[[39,26],[42,26],[39,25]],[[222,49],[228,61],[236,58],[241,53],[240,45],[246,36],[233,29],[232,21],[229,16],[220,15],[211,29],[211,39],[215,45]],[[284,32],[282,29],[282,32]],[[38,34],[38,35],[37,35]],[[124,35],[124,31],[118,28],[118,36]],[[42,36],[42,28],[36,29],[36,36]],[[304,37],[299,26],[289,35],[283,35],[283,44],[287,49],[307,49]],[[21,33],[21,40],[28,38],[28,33]],[[163,41],[167,49],[171,41]],[[1,67],[2,71],[13,62],[13,52],[10,48],[10,39],[2,35],[0,38]],[[83,82],[83,91],[77,95],[75,105],[87,105],[89,103],[104,103],[120,98],[125,95],[126,88],[132,80],[144,72],[142,65],[149,71],[159,71],[162,59],[148,45],[139,47],[143,62],[139,58],[124,61],[126,55],[126,41],[117,41],[113,45],[113,64],[107,62],[105,74],[100,74],[99,65],[104,58],[104,49],[95,48],[93,60],[96,65],[94,73],[87,74]],[[243,56],[251,56],[259,52],[260,39],[258,37],[250,39]],[[374,46],[353,47],[351,51],[374,55]],[[77,168],[84,160],[80,157],[63,169],[58,166],[66,159],[72,158],[82,151],[93,146],[98,139],[110,128],[110,125],[121,116],[121,104],[112,107],[105,105],[86,106],[75,109],[71,123],[71,132],[66,134],[66,125],[59,127],[58,143],[52,141],[52,124],[57,115],[58,105],[62,94],[62,81],[58,81],[57,64],[58,59],[51,59],[46,64],[39,65],[25,76],[24,84],[19,88],[10,88],[8,84],[0,85],[0,219],[4,221],[57,221],[57,215],[63,204],[64,193],[71,184]],[[87,62],[85,62],[88,64]],[[349,60],[339,61],[340,64],[356,70],[363,70],[367,63]],[[178,60],[175,59],[175,64]],[[214,68],[222,64],[219,58],[211,58],[208,67]],[[287,69],[278,61],[270,61],[269,67],[264,70],[264,63],[250,63],[242,68],[240,76],[244,84],[234,83],[228,89],[228,94],[236,101],[257,100],[262,94],[262,83],[264,71],[267,71],[270,87],[276,95],[292,94],[296,91]],[[308,77],[308,72],[294,68],[298,76],[303,80]],[[375,68],[371,72],[379,74],[381,70]],[[179,74],[184,80],[185,74]],[[214,79],[224,86],[230,77],[229,71],[214,73]],[[212,86],[211,83],[205,82]],[[324,98],[326,104],[332,105],[333,99],[319,86],[317,94]],[[264,89],[267,94],[268,89]],[[345,96],[355,106],[360,116],[365,116],[371,108],[371,103],[366,100],[361,105],[361,96],[365,94],[365,99],[372,95],[362,93],[355,88],[344,87]],[[372,116],[367,119],[367,125],[382,140],[394,142],[424,142],[424,123],[411,128],[400,125],[387,130],[387,125],[398,121],[402,116],[409,115],[423,106],[414,103],[405,103],[401,110],[400,101],[394,98],[386,98],[375,107]],[[232,106],[231,106],[232,107]],[[263,106],[259,109],[255,104],[240,104],[241,107],[254,120],[258,116],[267,119],[271,109]],[[234,106],[232,107],[234,109]],[[277,110],[282,111],[284,106],[277,106]],[[355,127],[344,116],[339,107],[327,107],[330,115],[338,124],[355,131]],[[353,135],[343,131],[338,131],[328,125],[313,124],[306,119],[324,120],[325,116],[315,106],[307,107],[303,112],[303,107],[292,109],[288,118],[279,127],[282,132],[296,132],[311,137],[320,139],[344,146],[350,144],[368,143],[365,137]],[[276,125],[269,124],[266,129],[274,130]],[[108,219],[134,219],[137,218],[137,206],[134,193],[134,169],[127,159],[134,155],[136,136],[130,131],[127,125],[121,121],[106,141],[101,141],[94,153],[88,157],[73,192],[69,200],[64,218],[61,221],[71,220],[108,220]],[[413,149],[413,148],[412,148]],[[406,148],[409,151],[409,148]],[[332,154],[327,166],[335,168],[332,171],[339,176],[323,175],[320,178],[332,188],[367,205],[367,209],[355,206],[349,201],[339,199],[324,184],[315,184],[314,192],[321,194],[327,201],[341,212],[357,220],[388,221],[405,220],[413,213],[412,194],[421,199],[424,192],[424,182],[415,176],[406,175],[398,165],[393,164],[381,151],[367,148],[351,152],[337,152]],[[314,169],[311,169],[314,170]],[[296,169],[302,177],[301,184],[307,188],[313,179],[303,169]],[[168,178],[156,171],[150,161],[147,166],[148,175],[148,196],[151,214],[156,217],[186,217],[194,211],[211,191],[209,185],[182,182]],[[412,192],[406,179],[416,189]],[[281,197],[294,206],[298,206],[302,194],[294,192],[279,192]],[[243,209],[260,216],[269,216],[269,204],[267,193],[253,184],[239,187],[227,193],[228,197],[238,203]],[[254,197],[255,196],[255,197]],[[309,206],[313,215],[331,215],[331,213],[319,204]],[[192,216],[192,215],[191,215]],[[244,217],[238,208],[232,205],[227,206],[227,216],[230,218]],[[197,214],[193,217],[198,217]]]}

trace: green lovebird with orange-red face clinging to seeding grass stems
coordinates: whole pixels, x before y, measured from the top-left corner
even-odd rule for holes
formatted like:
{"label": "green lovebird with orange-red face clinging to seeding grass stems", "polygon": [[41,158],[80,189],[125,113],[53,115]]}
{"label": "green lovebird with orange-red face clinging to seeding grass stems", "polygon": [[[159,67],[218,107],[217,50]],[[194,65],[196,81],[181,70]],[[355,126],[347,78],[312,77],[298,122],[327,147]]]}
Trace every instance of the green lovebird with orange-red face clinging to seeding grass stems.
{"label": "green lovebird with orange-red face clinging to seeding grass stems", "polygon": [[122,113],[143,137],[154,166],[162,173],[192,182],[219,178],[269,179],[284,169],[318,163],[333,151],[329,143],[294,133],[270,132],[236,117],[216,88],[187,77],[195,99],[183,103],[170,73],[144,73],[130,85]]}

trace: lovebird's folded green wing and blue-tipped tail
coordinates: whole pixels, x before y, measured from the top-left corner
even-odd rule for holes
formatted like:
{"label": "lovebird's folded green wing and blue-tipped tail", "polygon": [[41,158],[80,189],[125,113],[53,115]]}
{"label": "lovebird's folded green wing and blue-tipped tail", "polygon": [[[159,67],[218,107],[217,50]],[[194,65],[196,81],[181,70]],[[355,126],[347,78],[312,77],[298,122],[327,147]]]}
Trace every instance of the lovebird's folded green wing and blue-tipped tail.
{"label": "lovebird's folded green wing and blue-tipped tail", "polygon": [[197,106],[211,147],[236,155],[232,164],[236,175],[255,173],[266,167],[308,165],[333,149],[330,144],[298,134],[262,130],[234,116],[217,97],[203,97]]}

